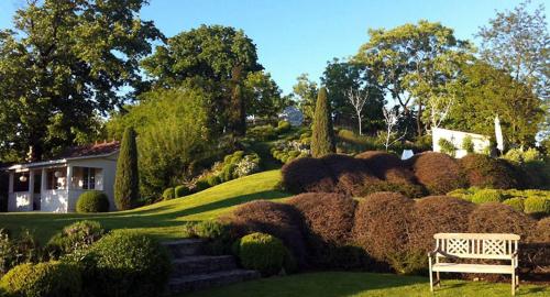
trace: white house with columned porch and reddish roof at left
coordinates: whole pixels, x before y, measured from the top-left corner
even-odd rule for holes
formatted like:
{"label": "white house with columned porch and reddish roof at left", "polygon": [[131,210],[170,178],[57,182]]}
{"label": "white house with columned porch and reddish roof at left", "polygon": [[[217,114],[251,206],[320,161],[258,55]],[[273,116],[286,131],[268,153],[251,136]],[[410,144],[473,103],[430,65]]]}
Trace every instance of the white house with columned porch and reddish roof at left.
{"label": "white house with columned porch and reddish roof at left", "polygon": [[8,211],[75,211],[80,194],[96,189],[114,210],[114,176],[119,142],[67,150],[54,160],[15,164],[9,173]]}

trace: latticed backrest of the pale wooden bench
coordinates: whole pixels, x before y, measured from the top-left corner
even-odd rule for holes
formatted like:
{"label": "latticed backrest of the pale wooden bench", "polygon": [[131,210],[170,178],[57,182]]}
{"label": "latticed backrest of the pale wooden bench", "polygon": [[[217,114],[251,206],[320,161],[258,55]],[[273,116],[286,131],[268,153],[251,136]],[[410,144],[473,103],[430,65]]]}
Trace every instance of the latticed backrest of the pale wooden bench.
{"label": "latticed backrest of the pale wooden bench", "polygon": [[437,233],[437,248],[444,254],[463,258],[510,258],[519,235],[504,233]]}

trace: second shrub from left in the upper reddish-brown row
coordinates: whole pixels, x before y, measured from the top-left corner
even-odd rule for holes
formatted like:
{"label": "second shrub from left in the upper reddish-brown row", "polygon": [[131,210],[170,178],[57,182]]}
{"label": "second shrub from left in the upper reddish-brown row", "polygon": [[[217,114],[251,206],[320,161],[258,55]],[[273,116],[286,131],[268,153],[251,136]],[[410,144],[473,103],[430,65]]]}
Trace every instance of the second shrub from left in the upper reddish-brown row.
{"label": "second shrub from left in the upper reddish-brown row", "polygon": [[364,185],[377,182],[378,178],[371,173],[362,160],[348,155],[332,154],[321,158],[337,180],[334,191],[351,196],[359,196]]}

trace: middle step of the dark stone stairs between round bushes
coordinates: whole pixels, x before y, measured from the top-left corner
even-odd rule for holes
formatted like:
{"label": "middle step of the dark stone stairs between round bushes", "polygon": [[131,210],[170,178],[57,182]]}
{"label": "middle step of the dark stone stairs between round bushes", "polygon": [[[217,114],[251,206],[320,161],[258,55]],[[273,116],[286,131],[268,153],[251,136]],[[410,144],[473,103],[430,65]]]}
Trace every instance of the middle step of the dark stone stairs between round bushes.
{"label": "middle step of the dark stone stairs between round bushes", "polygon": [[232,255],[185,256],[175,258],[172,263],[174,266],[174,272],[173,272],[174,276],[237,270],[235,258]]}

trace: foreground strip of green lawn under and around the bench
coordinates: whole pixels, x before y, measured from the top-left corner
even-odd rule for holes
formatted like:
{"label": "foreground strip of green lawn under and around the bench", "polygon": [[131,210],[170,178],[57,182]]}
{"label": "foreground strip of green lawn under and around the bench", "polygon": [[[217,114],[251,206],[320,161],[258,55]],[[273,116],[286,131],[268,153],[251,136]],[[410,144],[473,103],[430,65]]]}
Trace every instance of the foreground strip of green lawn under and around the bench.
{"label": "foreground strip of green lawn under and around the bench", "polygon": [[[322,272],[271,277],[176,297],[337,297],[337,296],[510,296],[509,284],[446,280],[430,293],[427,277]],[[520,286],[516,296],[550,296],[550,286]]]}

